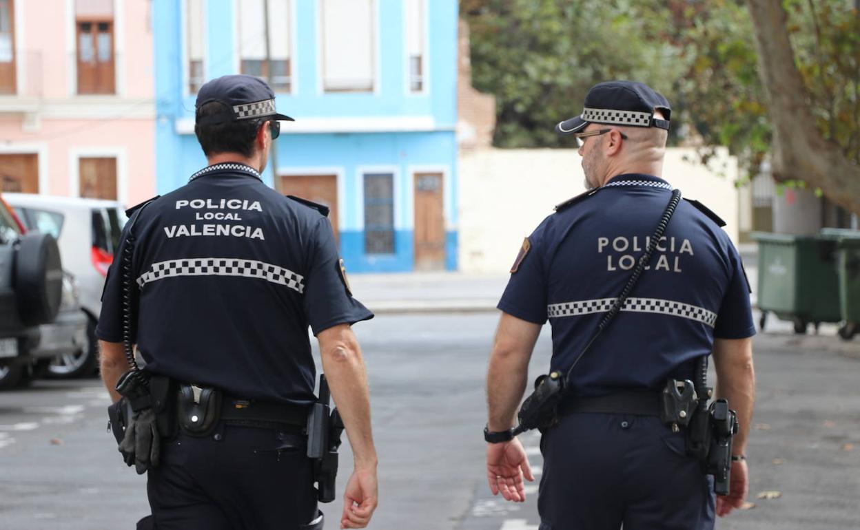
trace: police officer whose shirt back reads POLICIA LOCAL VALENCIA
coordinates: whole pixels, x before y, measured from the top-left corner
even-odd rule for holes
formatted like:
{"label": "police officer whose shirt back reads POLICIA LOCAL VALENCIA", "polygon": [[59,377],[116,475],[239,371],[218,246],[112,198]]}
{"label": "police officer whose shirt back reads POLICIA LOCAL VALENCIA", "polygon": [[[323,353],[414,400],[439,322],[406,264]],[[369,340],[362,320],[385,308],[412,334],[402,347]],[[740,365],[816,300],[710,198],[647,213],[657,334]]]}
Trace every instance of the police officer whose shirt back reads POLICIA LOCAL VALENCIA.
{"label": "police officer whose shirt back reads POLICIA LOCAL VALENCIA", "polygon": [[316,379],[308,326],[354,455],[341,527],[365,527],[376,508],[368,389],[350,327],[373,315],[350,293],[327,209],[260,178],[279,120],[292,119],[276,113],[272,89],[256,77],[223,76],[200,88],[194,132],[209,165],[131,214],[107,277],[96,334],[114,401],[128,370],[120,265],[131,246],[132,342],[145,373],[194,384],[187,405],[200,414],[187,422],[212,412],[203,405],[214,395],[208,389],[221,393],[220,417],[245,418],[221,419],[206,436],[180,429],[141,446],[139,433],[152,422],[138,414],[131,459],[138,472],[148,469],[152,509],[138,527],[322,527],[303,434]]}

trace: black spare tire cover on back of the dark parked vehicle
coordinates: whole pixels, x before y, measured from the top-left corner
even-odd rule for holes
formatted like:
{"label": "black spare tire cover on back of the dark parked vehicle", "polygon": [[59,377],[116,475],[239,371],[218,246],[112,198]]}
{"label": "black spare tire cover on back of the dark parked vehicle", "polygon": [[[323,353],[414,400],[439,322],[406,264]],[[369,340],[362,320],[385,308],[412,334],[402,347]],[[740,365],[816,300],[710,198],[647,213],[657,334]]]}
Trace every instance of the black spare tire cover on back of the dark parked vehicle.
{"label": "black spare tire cover on back of the dark parked vehicle", "polygon": [[22,236],[15,256],[15,295],[25,326],[56,318],[63,296],[63,267],[52,235],[31,232]]}

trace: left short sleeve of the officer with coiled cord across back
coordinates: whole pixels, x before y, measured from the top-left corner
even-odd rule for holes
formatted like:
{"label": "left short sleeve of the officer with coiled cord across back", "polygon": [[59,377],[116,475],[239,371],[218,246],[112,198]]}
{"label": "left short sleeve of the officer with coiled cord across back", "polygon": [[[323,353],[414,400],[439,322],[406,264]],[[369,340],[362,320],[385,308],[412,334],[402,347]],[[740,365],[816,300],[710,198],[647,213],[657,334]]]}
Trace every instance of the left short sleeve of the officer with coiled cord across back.
{"label": "left short sleeve of the officer with coiled cord across back", "polygon": [[544,221],[523,241],[511,267],[511,277],[497,308],[520,320],[544,324],[547,319],[546,270],[542,262]]}

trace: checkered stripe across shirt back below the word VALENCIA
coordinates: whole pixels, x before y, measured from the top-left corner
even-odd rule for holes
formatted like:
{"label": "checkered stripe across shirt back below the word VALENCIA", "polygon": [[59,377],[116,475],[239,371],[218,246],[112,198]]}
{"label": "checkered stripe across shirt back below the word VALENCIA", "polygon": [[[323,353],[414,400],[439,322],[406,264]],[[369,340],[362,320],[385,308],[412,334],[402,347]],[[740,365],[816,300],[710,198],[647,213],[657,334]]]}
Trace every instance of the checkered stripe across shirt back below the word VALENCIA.
{"label": "checkered stripe across shirt back below the word VALENCIA", "polygon": [[138,285],[179,276],[241,276],[286,285],[299,293],[304,292],[304,277],[293,271],[256,261],[235,258],[170,259],[153,263],[149,271],[138,277]]}

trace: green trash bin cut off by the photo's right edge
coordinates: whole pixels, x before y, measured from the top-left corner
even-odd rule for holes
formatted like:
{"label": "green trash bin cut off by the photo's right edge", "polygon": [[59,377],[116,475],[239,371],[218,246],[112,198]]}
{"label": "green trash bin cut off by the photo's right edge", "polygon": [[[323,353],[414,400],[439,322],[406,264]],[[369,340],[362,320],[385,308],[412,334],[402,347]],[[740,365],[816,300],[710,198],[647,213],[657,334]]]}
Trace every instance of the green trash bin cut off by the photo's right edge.
{"label": "green trash bin cut off by the photo's right edge", "polygon": [[821,235],[838,241],[839,308],[843,320],[839,337],[851,340],[860,332],[860,230],[824,228]]}

